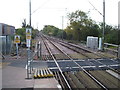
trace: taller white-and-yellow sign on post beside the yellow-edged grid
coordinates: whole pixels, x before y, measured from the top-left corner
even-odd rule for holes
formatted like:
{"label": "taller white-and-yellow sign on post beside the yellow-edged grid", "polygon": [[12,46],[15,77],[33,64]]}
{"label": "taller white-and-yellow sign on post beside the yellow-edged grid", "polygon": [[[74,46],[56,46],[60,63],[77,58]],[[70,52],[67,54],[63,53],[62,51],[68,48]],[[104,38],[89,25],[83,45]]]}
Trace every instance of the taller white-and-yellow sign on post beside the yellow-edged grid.
{"label": "taller white-and-yellow sign on post beside the yellow-edged grid", "polygon": [[[26,46],[28,47],[27,49],[27,78],[29,79],[29,73],[31,74],[31,55],[30,55],[30,47],[31,47],[31,33],[32,29],[31,28],[26,28]],[[30,69],[30,72],[29,72]]]}

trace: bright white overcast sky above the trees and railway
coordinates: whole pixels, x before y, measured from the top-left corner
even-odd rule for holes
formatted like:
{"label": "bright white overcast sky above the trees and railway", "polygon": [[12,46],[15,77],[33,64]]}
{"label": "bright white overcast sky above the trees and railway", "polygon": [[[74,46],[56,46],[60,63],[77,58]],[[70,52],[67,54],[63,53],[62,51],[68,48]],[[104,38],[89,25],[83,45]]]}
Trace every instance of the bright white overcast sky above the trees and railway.
{"label": "bright white overcast sky above the trees and railway", "polygon": [[[67,13],[76,10],[89,12],[89,16],[97,23],[102,22],[103,17],[92,5],[103,13],[103,0],[31,0],[32,2],[32,26],[42,29],[44,25],[54,25],[62,28],[62,16],[64,16],[64,28],[67,26]],[[120,0],[105,0],[106,23],[118,25],[118,2]],[[0,23],[6,23],[20,28],[22,21],[29,23],[29,0],[0,0]]]}

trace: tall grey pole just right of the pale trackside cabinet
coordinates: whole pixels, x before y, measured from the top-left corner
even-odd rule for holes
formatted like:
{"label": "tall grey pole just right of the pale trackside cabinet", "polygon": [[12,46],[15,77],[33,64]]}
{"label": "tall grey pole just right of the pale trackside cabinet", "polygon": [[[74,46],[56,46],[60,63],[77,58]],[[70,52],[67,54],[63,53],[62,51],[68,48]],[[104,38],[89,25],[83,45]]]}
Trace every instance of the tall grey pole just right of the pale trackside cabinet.
{"label": "tall grey pole just right of the pale trackside cabinet", "polygon": [[103,0],[103,37],[102,37],[102,49],[104,50],[105,41],[105,0]]}

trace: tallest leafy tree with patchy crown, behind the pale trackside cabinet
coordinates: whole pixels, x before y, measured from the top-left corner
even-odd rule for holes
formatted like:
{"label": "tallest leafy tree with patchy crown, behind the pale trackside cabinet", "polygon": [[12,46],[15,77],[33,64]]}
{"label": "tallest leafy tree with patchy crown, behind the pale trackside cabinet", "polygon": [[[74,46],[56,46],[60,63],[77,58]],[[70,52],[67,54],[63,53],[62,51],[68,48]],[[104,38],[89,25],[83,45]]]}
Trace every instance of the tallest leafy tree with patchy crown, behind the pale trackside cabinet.
{"label": "tallest leafy tree with patchy crown, behind the pale trackside cabinet", "polygon": [[66,28],[66,31],[70,32],[70,30],[72,30],[71,36],[74,40],[86,40],[89,35],[99,36],[99,26],[90,19],[85,12],[77,10],[69,14],[68,18],[70,21],[70,28]]}

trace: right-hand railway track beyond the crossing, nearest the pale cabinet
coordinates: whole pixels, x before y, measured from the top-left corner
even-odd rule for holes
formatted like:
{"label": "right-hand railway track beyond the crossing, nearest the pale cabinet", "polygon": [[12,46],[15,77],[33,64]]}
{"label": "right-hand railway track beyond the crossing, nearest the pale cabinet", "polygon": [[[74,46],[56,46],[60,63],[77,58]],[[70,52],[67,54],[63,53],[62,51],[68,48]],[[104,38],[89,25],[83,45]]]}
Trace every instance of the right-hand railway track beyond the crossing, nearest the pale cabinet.
{"label": "right-hand railway track beyond the crossing, nearest the pale cabinet", "polygon": [[80,47],[79,45],[75,45],[75,44],[72,44],[72,43],[68,43],[68,42],[65,42],[65,41],[62,41],[62,40],[56,40],[56,39],[53,39],[53,38],[50,38],[52,41],[54,42],[57,42],[69,49],[72,49],[74,50],[75,52],[77,53],[80,53],[82,54],[83,56],[87,57],[87,59],[89,58],[92,58],[92,59],[97,59],[97,58],[116,58],[114,55],[110,55],[110,54],[107,54],[107,53],[103,53],[103,52],[94,52],[94,51],[91,51],[89,49],[86,49],[84,47]]}

